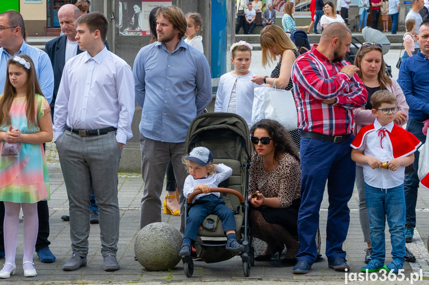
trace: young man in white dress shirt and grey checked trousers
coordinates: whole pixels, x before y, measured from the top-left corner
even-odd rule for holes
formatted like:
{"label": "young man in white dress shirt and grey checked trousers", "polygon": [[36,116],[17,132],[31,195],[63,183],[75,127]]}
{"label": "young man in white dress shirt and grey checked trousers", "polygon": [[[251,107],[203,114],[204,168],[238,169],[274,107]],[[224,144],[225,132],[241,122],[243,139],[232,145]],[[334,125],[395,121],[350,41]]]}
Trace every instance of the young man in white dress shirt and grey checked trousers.
{"label": "young man in white dress shirt and grey checked trousers", "polygon": [[109,52],[108,21],[98,12],[76,20],[79,48],[64,66],[54,114],[54,141],[70,204],[73,256],[64,271],[86,266],[91,186],[99,207],[103,269],[119,269],[117,197],[122,147],[132,137],[134,80],[131,67]]}

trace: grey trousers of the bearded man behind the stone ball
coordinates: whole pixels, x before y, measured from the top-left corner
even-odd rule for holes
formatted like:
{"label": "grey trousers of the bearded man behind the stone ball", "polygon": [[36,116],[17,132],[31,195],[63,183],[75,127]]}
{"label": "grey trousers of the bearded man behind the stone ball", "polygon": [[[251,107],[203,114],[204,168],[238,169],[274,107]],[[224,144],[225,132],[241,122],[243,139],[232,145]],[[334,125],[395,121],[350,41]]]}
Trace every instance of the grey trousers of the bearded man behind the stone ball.
{"label": "grey trousers of the bearded man behind the stone ball", "polygon": [[186,178],[186,168],[182,159],[185,155],[185,143],[156,141],[140,134],[140,150],[142,152],[142,177],[145,182],[143,198],[140,204],[140,228],[161,222],[160,196],[163,190],[167,164],[171,159],[177,182],[177,191],[180,196],[180,233],[183,234],[185,225],[183,183]]}

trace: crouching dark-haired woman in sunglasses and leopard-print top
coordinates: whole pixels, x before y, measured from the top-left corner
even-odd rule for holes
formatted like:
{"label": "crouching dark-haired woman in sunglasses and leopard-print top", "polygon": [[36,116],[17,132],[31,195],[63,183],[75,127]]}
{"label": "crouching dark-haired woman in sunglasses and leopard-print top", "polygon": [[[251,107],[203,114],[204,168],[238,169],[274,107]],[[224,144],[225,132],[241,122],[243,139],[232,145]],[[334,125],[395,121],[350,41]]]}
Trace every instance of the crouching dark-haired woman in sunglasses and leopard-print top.
{"label": "crouching dark-haired woman in sunglasses and leopard-print top", "polygon": [[274,253],[283,263],[295,265],[299,242],[298,210],[301,204],[299,153],[289,133],[275,120],[263,119],[251,129],[257,155],[252,157],[249,179],[250,223],[252,236],[268,246],[256,260],[269,260]]}

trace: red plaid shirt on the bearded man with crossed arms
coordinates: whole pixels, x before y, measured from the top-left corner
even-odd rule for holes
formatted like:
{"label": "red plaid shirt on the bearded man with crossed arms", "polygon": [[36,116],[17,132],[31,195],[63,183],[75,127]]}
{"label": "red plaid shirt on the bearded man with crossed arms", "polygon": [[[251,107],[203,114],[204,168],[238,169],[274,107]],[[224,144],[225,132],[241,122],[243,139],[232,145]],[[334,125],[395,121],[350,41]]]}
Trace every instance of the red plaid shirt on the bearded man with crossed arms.
{"label": "red plaid shirt on the bearded man with crossed arms", "polygon": [[[293,91],[298,109],[298,128],[324,135],[342,135],[353,130],[352,109],[366,104],[368,92],[357,73],[349,78],[340,70],[347,61],[331,63],[316,50],[298,57],[293,64]],[[322,101],[337,99],[335,104]]]}

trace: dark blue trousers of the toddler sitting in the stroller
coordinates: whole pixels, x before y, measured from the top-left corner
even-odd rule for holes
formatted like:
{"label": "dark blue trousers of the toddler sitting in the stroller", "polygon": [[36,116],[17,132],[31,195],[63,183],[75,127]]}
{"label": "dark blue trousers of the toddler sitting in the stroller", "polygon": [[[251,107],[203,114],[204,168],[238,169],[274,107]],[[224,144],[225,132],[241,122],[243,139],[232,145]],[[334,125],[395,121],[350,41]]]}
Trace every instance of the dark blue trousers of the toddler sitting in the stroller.
{"label": "dark blue trousers of the toddler sitting in the stroller", "polygon": [[[236,230],[234,212],[225,206],[225,201],[214,195],[205,195],[194,202],[186,218],[186,228],[183,238],[195,241],[198,228],[204,219],[210,215],[218,215],[222,221],[223,231]],[[219,227],[219,225],[218,225]]]}

